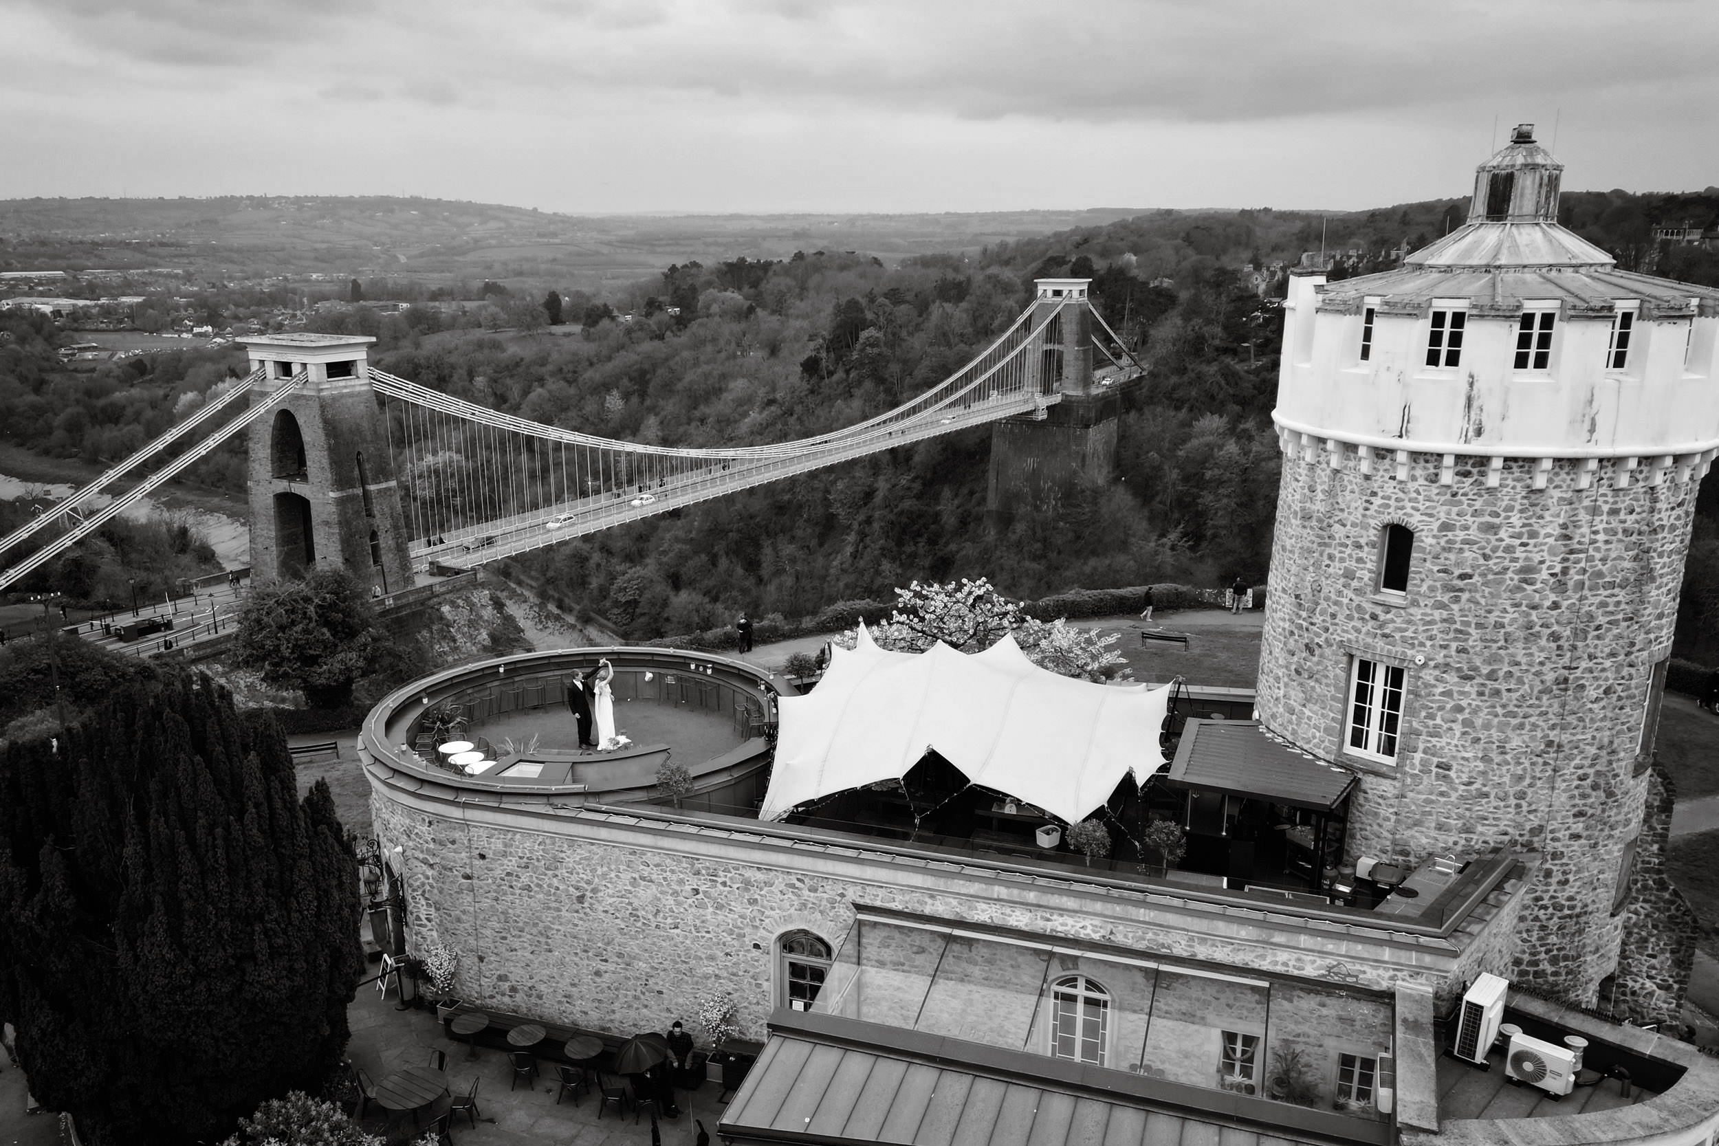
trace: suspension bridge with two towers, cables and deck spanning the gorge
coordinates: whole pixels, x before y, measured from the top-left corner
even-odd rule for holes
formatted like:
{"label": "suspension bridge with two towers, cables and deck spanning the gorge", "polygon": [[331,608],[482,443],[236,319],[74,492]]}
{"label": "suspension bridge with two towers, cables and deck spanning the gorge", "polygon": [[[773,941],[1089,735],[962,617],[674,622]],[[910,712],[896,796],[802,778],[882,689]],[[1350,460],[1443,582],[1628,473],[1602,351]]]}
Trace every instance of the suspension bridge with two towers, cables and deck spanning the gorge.
{"label": "suspension bridge with two towers, cables and deck spanning the gorge", "polygon": [[[1069,395],[1143,375],[1086,285],[1038,280],[1002,335],[890,411],[810,438],[720,448],[621,442],[504,414],[370,366],[370,338],[248,338],[251,375],[0,538],[0,564],[10,560],[0,591],[237,435],[249,436],[253,579],[339,562],[380,596],[880,450],[1043,419]],[[220,624],[217,612],[208,622]]]}

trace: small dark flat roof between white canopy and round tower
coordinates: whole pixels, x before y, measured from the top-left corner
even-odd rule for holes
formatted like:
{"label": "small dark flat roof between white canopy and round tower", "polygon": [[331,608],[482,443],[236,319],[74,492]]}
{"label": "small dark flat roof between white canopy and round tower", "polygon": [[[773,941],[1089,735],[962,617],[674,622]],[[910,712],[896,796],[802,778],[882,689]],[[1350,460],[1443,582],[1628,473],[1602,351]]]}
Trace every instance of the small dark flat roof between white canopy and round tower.
{"label": "small dark flat roof between white canopy and round tower", "polygon": [[1332,811],[1358,777],[1279,744],[1251,720],[1190,720],[1169,782]]}

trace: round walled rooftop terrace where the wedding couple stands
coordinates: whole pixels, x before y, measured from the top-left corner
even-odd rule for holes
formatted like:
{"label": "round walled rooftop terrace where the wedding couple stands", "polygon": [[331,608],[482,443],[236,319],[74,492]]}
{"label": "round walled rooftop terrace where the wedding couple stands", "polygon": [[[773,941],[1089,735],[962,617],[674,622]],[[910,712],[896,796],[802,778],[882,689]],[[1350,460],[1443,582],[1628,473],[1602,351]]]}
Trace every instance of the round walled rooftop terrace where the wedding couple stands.
{"label": "round walled rooftop terrace where the wedding couple stands", "polygon": [[[579,747],[574,672],[615,668],[612,751]],[[775,698],[796,689],[744,661],[664,648],[581,648],[461,665],[413,680],[364,718],[359,754],[406,777],[490,799],[557,804],[674,801],[665,763],[686,768],[681,806],[749,816],[763,794]],[[464,742],[476,759],[454,761]]]}

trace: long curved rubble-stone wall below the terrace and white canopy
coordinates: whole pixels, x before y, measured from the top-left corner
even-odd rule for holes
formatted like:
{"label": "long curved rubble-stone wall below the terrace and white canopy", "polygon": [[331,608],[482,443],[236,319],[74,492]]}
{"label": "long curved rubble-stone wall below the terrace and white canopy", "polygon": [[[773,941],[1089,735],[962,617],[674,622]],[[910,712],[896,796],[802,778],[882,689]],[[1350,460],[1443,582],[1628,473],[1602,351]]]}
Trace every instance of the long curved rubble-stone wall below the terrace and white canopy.
{"label": "long curved rubble-stone wall below the terrace and white canopy", "polygon": [[633,1033],[691,1019],[698,998],[729,990],[756,1038],[779,991],[777,938],[806,928],[839,948],[854,904],[1310,979],[1341,967],[1375,990],[1453,986],[1458,950],[1442,940],[609,813],[428,799],[376,768],[375,830],[385,850],[404,847],[411,943],[459,952],[459,991],[480,1007]]}

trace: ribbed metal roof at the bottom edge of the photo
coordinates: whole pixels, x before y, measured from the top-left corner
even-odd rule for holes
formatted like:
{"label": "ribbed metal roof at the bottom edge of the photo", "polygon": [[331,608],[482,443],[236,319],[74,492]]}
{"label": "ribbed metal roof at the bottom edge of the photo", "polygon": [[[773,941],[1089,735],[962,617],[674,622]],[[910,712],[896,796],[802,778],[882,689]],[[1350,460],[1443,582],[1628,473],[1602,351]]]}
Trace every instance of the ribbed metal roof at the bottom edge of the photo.
{"label": "ribbed metal roof at the bottom edge of the photo", "polygon": [[739,1141],[899,1146],[1293,1146],[1231,1124],[772,1034],[717,1131]]}

